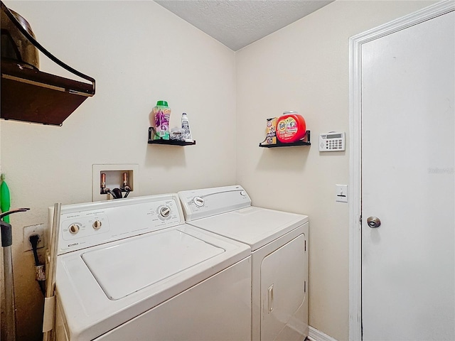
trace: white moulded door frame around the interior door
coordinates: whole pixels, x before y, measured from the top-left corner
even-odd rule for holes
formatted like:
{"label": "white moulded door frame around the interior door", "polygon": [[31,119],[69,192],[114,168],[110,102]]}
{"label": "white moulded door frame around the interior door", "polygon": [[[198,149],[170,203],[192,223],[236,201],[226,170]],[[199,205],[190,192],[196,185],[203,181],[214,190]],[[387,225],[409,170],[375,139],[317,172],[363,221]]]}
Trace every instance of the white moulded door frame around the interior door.
{"label": "white moulded door frame around the interior door", "polygon": [[349,340],[362,340],[362,45],[455,11],[446,0],[349,38]]}

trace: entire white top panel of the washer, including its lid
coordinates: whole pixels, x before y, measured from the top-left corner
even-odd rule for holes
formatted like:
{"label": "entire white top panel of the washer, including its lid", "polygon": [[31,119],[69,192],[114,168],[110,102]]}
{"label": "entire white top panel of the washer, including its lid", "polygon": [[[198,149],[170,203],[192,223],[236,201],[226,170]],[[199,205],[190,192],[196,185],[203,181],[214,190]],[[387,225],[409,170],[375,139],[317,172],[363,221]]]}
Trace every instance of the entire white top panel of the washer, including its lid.
{"label": "entire white top panel of the washer, including its lid", "polygon": [[[128,247],[118,247],[122,244]],[[246,244],[181,224],[59,255],[55,296],[70,340],[94,340],[250,255]],[[157,276],[163,269],[167,272]],[[127,296],[109,299],[106,291]]]}

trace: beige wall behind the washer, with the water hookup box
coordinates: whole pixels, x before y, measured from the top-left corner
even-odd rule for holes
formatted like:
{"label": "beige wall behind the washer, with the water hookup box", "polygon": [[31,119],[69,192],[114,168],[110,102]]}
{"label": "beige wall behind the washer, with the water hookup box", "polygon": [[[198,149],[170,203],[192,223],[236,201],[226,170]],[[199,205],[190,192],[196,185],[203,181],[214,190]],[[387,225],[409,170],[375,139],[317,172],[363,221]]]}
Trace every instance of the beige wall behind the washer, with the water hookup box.
{"label": "beige wall behind the washer, with the water hookup box", "polygon": [[[139,164],[141,195],[235,183],[235,53],[153,1],[4,1],[51,53],[97,90],[61,127],[1,121],[1,171],[11,207],[18,335],[40,335],[42,298],[22,228],[47,208],[92,200],[93,163]],[[42,56],[41,56],[42,57]],[[41,58],[41,70],[67,75]],[[196,146],[147,144],[159,99],[190,119]],[[233,130],[233,129],[232,129]]]}

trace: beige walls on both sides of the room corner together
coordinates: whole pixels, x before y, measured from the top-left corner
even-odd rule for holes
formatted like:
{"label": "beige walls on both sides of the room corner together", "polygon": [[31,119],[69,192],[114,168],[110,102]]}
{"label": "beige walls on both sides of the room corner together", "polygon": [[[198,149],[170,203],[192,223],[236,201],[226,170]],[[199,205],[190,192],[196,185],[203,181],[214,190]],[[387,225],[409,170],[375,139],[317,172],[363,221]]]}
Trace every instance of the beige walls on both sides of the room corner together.
{"label": "beige walls on both sides of the room corner together", "polygon": [[[319,153],[318,134],[348,133],[348,38],[432,1],[336,1],[233,53],[152,1],[5,1],[45,48],[97,80],[62,127],[0,121],[11,217],[18,334],[38,340],[42,298],[22,228],[46,207],[91,200],[93,163],[139,164],[141,195],[240,183],[255,205],[308,214],[310,325],[348,338],[348,153]],[[41,58],[41,70],[68,73]],[[156,100],[188,112],[196,146],[146,144]],[[237,102],[237,104],[236,104]],[[265,119],[298,110],[313,146],[258,148]],[[237,117],[235,116],[237,112]],[[349,134],[347,134],[349,139]]]}

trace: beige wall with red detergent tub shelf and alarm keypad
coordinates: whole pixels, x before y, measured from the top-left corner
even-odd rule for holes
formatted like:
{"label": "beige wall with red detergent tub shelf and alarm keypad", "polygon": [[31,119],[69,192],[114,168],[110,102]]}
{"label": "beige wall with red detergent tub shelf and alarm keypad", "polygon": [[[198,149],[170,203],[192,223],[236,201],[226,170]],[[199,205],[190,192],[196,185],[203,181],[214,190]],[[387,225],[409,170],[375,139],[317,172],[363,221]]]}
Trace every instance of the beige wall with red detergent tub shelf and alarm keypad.
{"label": "beige wall with red detergent tub shelf and alarm keypad", "polygon": [[[309,324],[348,340],[349,149],[319,153],[319,134],[346,131],[348,39],[433,1],[336,1],[236,53],[237,183],[253,204],[310,217]],[[265,123],[296,110],[311,147],[259,148]]]}

